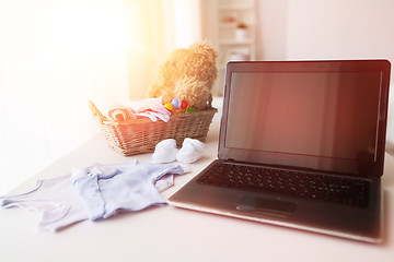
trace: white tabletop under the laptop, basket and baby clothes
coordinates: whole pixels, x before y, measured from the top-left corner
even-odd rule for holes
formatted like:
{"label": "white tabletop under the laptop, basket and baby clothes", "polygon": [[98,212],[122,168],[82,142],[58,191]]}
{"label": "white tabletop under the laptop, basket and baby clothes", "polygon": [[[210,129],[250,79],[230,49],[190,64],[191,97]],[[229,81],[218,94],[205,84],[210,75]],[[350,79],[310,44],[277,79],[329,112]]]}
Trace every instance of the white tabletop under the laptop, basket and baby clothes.
{"label": "white tabletop under the laptop, basket and baby clothes", "polygon": [[[217,157],[219,116],[207,138],[205,156],[193,172],[175,178],[169,198]],[[96,135],[12,193],[35,180],[69,174],[73,166],[121,163],[124,157]],[[136,156],[151,162],[151,154]],[[394,157],[386,154],[383,176],[385,233],[374,246],[173,206],[124,213],[100,223],[82,222],[60,233],[35,229],[37,216],[21,209],[0,210],[0,261],[394,261]]]}

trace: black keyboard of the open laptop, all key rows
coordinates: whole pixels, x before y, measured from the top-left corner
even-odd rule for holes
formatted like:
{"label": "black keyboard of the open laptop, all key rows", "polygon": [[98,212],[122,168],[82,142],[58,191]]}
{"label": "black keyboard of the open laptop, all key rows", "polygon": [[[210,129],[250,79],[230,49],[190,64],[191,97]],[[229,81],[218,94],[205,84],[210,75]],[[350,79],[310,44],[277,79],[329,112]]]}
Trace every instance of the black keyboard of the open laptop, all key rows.
{"label": "black keyboard of the open laptop, all key rows", "polygon": [[360,207],[368,205],[370,190],[369,181],[357,178],[232,164],[216,165],[198,182]]}

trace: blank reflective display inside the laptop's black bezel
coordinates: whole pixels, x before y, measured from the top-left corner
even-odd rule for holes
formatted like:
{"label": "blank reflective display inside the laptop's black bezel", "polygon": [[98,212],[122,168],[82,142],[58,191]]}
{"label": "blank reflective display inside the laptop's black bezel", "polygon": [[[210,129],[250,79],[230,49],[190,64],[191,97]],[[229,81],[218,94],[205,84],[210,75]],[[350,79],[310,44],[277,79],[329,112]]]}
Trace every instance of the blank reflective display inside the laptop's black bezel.
{"label": "blank reflective display inside the laptop's black bezel", "polygon": [[378,72],[233,73],[225,146],[265,152],[279,164],[298,155],[311,168],[356,172],[361,158],[375,160],[380,79]]}

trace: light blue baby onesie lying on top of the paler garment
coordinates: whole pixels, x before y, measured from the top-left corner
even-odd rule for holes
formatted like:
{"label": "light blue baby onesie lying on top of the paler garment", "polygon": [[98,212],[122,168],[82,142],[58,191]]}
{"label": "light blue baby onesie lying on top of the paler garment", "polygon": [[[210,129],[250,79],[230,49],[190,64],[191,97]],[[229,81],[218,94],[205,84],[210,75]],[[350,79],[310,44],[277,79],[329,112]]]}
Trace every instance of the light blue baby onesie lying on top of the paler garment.
{"label": "light blue baby onesie lying on top of the paler garment", "polygon": [[74,189],[91,221],[107,218],[121,211],[140,211],[165,205],[154,183],[167,174],[182,175],[178,165],[138,164],[125,169],[96,168],[86,176],[73,176]]}

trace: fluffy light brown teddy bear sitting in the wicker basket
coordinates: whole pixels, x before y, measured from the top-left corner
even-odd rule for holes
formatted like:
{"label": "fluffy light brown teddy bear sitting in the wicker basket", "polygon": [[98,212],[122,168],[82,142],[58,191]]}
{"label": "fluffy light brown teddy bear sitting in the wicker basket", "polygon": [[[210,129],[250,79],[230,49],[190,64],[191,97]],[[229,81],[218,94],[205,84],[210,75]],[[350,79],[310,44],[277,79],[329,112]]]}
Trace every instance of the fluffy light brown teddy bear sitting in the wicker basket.
{"label": "fluffy light brown teddy bear sitting in the wicker basket", "polygon": [[209,108],[218,76],[217,57],[217,50],[207,41],[175,49],[159,66],[148,96],[162,97],[163,104],[178,98],[196,110]]}

